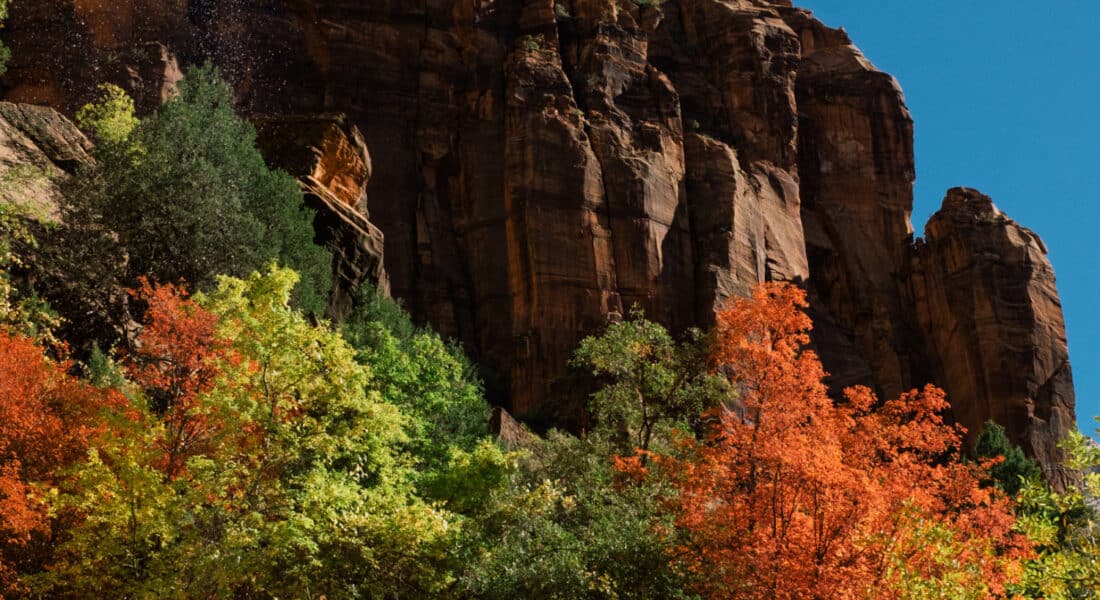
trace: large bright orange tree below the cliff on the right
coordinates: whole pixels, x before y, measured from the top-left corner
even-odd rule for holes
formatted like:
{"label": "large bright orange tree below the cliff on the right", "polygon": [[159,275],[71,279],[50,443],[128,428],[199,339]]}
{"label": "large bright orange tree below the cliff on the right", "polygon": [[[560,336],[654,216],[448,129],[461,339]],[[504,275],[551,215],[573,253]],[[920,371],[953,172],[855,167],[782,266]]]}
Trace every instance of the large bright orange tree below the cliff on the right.
{"label": "large bright orange tree below the cliff on the right", "polygon": [[[837,405],[806,350],[804,293],[766,284],[718,315],[713,360],[739,391],[702,443],[656,457],[673,482],[681,559],[710,598],[982,598],[1026,541],[1008,500],[960,460],[933,386]],[[639,461],[634,468],[642,469]],[[945,596],[946,594],[946,596]]]}

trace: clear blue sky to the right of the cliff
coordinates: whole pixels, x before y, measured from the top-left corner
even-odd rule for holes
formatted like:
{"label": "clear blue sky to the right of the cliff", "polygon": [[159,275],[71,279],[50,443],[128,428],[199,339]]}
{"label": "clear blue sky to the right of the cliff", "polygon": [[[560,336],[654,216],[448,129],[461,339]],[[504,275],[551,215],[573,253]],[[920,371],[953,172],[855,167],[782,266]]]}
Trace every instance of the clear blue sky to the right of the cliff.
{"label": "clear blue sky to the right of the cliff", "polygon": [[916,122],[917,232],[976,187],[1050,251],[1077,416],[1100,415],[1100,0],[794,0],[901,81]]}

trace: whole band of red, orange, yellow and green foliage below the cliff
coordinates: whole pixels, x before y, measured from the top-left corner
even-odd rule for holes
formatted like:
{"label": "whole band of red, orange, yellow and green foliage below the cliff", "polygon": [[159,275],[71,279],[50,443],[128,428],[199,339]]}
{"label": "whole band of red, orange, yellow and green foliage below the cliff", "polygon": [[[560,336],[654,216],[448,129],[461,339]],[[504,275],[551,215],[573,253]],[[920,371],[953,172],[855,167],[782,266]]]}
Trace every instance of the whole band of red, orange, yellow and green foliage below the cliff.
{"label": "whole band of red, orange, yellow and green foliage below the cliff", "polygon": [[135,349],[82,368],[100,386],[0,330],[6,597],[1076,598],[1094,578],[1084,497],[1031,481],[1013,503],[942,391],[829,397],[794,286],[682,343],[609,326],[574,359],[596,428],[505,450],[438,337],[388,305],[312,325],[296,279],[143,283]]}

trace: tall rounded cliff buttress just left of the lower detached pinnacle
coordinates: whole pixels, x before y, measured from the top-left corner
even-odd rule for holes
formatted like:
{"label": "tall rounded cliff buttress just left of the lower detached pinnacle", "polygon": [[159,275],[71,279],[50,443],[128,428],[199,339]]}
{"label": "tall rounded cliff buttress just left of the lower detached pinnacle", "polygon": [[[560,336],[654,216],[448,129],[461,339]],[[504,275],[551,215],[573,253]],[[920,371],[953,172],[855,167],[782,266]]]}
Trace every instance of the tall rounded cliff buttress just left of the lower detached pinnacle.
{"label": "tall rounded cliff buttress just left of the lower detached pinnacle", "polygon": [[[869,371],[894,396],[926,378],[897,277],[913,233],[913,120],[898,81],[847,34],[802,12],[788,21],[803,56],[799,162],[816,341],[837,384]],[[834,350],[849,341],[862,360]]]}

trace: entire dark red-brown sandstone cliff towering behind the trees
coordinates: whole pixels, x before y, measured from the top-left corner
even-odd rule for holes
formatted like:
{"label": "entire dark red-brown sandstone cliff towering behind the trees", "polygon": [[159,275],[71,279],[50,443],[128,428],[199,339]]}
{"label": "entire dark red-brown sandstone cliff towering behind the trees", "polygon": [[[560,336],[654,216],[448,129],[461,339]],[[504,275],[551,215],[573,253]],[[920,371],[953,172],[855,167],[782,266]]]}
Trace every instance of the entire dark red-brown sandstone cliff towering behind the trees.
{"label": "entire dark red-brown sandstone cliff towering behind the trees", "polygon": [[[209,57],[248,111],[345,113],[394,295],[521,418],[583,426],[569,353],[631,305],[681,329],[794,280],[835,384],[939,383],[1044,459],[1072,422],[1037,242],[950,204],[914,247],[897,81],[789,2],[25,0],[7,37],[12,99],[72,111],[106,78],[151,106]],[[295,171],[317,197],[322,163]]]}

